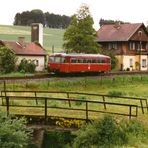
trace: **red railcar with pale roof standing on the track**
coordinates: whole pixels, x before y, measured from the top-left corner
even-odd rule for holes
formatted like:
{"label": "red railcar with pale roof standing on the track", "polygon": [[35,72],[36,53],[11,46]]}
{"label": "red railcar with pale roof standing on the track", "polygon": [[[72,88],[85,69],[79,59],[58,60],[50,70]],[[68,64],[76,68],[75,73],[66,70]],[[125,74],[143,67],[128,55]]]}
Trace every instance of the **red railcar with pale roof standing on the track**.
{"label": "red railcar with pale roof standing on the track", "polygon": [[53,54],[48,71],[54,73],[109,72],[111,59],[101,54]]}

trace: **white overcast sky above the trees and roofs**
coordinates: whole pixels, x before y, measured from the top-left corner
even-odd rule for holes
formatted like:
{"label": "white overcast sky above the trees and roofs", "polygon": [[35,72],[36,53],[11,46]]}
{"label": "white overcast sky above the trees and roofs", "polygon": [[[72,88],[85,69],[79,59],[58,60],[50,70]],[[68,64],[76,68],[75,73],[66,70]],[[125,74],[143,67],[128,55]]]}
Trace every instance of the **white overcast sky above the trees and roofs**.
{"label": "white overcast sky above the trees and roofs", "polygon": [[148,0],[2,0],[0,24],[12,25],[16,13],[33,9],[71,16],[82,3],[89,6],[96,30],[100,18],[148,25]]}

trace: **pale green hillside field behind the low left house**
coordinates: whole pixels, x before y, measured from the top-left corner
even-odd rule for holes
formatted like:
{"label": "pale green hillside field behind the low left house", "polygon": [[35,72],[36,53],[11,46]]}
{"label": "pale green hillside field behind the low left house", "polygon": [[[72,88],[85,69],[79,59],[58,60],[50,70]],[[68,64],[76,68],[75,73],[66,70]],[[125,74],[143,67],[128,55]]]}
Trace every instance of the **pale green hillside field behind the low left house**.
{"label": "pale green hillside field behind the low left house", "polygon": [[[55,52],[62,50],[63,29],[44,28],[44,48],[50,53],[54,45]],[[24,36],[27,42],[31,41],[31,27],[0,25],[0,40],[17,41]]]}

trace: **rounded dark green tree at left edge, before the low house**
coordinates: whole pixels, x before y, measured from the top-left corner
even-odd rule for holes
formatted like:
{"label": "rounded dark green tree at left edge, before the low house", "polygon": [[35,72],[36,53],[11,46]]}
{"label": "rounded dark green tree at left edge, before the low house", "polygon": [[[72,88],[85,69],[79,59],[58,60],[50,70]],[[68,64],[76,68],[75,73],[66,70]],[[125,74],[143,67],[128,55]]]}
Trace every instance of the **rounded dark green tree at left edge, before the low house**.
{"label": "rounded dark green tree at left edge, before the low house", "polygon": [[0,70],[9,73],[15,70],[17,58],[12,50],[5,46],[0,47]]}

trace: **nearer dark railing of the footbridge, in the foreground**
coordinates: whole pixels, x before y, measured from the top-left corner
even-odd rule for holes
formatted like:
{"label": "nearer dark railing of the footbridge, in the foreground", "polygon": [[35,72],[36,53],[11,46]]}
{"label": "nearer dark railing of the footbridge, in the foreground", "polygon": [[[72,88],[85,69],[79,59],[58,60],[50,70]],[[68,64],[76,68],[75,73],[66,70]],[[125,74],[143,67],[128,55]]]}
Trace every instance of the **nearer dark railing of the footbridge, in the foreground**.
{"label": "nearer dark railing of the footbridge, in the foreground", "polygon": [[[27,109],[27,108],[36,108],[36,109],[39,109],[39,108],[43,108],[44,109],[44,120],[45,120],[45,124],[46,124],[46,121],[47,121],[47,117],[49,116],[53,116],[50,114],[50,112],[48,112],[48,109],[60,109],[60,110],[72,110],[74,111],[74,114],[75,114],[75,111],[82,111],[85,113],[85,118],[79,118],[79,119],[82,119],[82,120],[90,120],[91,118],[89,117],[89,113],[91,112],[95,112],[95,113],[107,113],[107,114],[115,114],[115,115],[122,115],[122,116],[128,116],[129,119],[131,119],[132,117],[137,117],[138,115],[138,106],[137,105],[133,105],[133,104],[123,104],[123,103],[112,103],[112,102],[101,102],[101,101],[90,101],[90,100],[81,100],[81,99],[67,99],[67,98],[51,98],[51,97],[28,97],[28,96],[0,96],[0,98],[5,98],[5,103],[4,104],[1,104],[2,107],[6,107],[6,111],[7,111],[7,114],[11,114],[11,111],[10,111],[10,108],[12,107],[15,107],[15,110],[17,110],[17,107],[19,107],[19,110],[20,108],[24,108]],[[44,101],[44,104],[43,105],[23,105],[23,102],[24,101],[27,101],[27,100],[42,100]],[[11,104],[10,102],[13,101],[13,100],[19,100],[19,101],[22,101],[22,104],[21,105],[15,105],[15,104]],[[73,108],[73,107],[62,107],[62,106],[59,106],[59,107],[56,107],[56,106],[50,106],[48,104],[48,101],[51,101],[51,100],[54,100],[54,101],[72,101],[72,102],[82,102],[83,104],[85,104],[85,107],[79,107],[79,108]],[[108,105],[108,106],[119,106],[119,107],[126,107],[126,111],[128,110],[128,113],[122,113],[122,112],[111,112],[111,111],[107,111],[106,109],[105,110],[97,110],[97,109],[92,109],[92,108],[89,108],[90,104],[101,104],[101,105]],[[23,114],[21,114],[23,115]],[[28,114],[28,115],[31,115]],[[66,115],[66,114],[64,114]],[[25,116],[25,114],[24,114]],[[65,116],[66,117],[66,116]],[[64,116],[63,116],[64,118]],[[75,118],[76,119],[76,118]]]}

